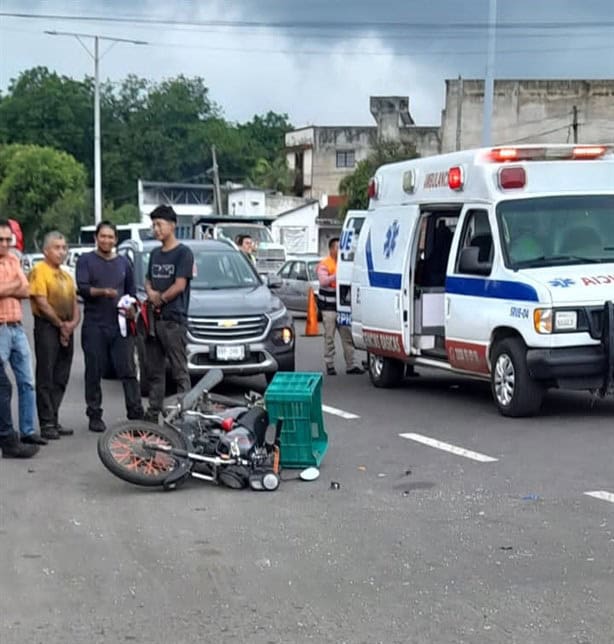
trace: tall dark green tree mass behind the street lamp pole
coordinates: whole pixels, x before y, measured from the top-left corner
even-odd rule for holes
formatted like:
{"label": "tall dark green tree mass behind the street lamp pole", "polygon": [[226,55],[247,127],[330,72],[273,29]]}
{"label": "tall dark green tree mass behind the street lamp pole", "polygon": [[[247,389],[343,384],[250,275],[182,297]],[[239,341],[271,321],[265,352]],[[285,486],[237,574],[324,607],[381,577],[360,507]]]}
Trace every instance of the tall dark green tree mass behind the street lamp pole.
{"label": "tall dark green tree mass behind the street lamp pole", "polygon": [[[0,97],[0,143],[67,151],[85,166],[92,186],[93,106],[90,78],[76,81],[45,67],[25,71]],[[290,129],[287,115],[275,112],[243,124],[226,121],[202,78],[154,83],[128,76],[119,85],[103,84],[103,199],[114,207],[136,204],[139,178],[209,182],[212,145],[222,181],[244,181],[261,159],[278,163]]]}

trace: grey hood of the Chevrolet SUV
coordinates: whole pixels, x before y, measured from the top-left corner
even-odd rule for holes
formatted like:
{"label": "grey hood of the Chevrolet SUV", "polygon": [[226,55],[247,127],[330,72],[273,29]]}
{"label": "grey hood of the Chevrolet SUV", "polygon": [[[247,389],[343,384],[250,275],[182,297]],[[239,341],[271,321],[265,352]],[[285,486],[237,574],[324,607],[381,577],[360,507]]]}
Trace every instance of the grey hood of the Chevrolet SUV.
{"label": "grey hood of the Chevrolet SUV", "polygon": [[262,315],[281,308],[283,308],[281,300],[264,284],[219,291],[192,287],[188,315],[197,317]]}

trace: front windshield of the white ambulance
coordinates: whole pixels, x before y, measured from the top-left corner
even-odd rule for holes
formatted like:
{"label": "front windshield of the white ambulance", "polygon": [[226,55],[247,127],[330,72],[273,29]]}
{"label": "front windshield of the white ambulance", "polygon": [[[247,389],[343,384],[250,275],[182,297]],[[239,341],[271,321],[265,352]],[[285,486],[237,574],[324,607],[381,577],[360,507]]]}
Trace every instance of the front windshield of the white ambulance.
{"label": "front windshield of the white ambulance", "polygon": [[614,262],[614,195],[503,201],[497,220],[511,268]]}

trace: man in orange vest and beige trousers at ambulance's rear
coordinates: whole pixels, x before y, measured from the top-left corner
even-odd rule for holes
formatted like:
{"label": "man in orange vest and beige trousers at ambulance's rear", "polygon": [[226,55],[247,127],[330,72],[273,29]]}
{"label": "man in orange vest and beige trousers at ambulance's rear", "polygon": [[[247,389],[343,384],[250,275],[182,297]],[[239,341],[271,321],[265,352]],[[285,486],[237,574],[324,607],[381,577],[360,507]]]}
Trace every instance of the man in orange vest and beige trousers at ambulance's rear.
{"label": "man in orange vest and beige trousers at ambulance's rear", "polygon": [[364,371],[354,364],[354,345],[352,332],[348,326],[337,326],[337,252],[339,238],[334,237],[328,242],[328,256],[319,264],[317,269],[318,282],[318,308],[322,313],[324,326],[324,363],[329,376],[337,375],[335,370],[335,330],[339,331],[343,357],[347,374],[361,374]]}

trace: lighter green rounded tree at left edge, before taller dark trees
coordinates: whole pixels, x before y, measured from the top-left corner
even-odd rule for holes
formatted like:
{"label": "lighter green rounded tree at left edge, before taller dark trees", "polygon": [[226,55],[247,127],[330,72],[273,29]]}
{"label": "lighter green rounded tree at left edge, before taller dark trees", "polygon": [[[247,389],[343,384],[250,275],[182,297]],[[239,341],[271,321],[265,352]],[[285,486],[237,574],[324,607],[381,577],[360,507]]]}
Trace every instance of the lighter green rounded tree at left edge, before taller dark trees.
{"label": "lighter green rounded tree at left edge, before taller dark trees", "polygon": [[67,230],[75,225],[77,211],[71,208],[60,215],[60,202],[78,204],[85,191],[85,168],[66,152],[36,145],[5,146],[0,152],[0,181],[0,213],[21,223],[26,243],[37,246],[49,227],[62,223]]}

